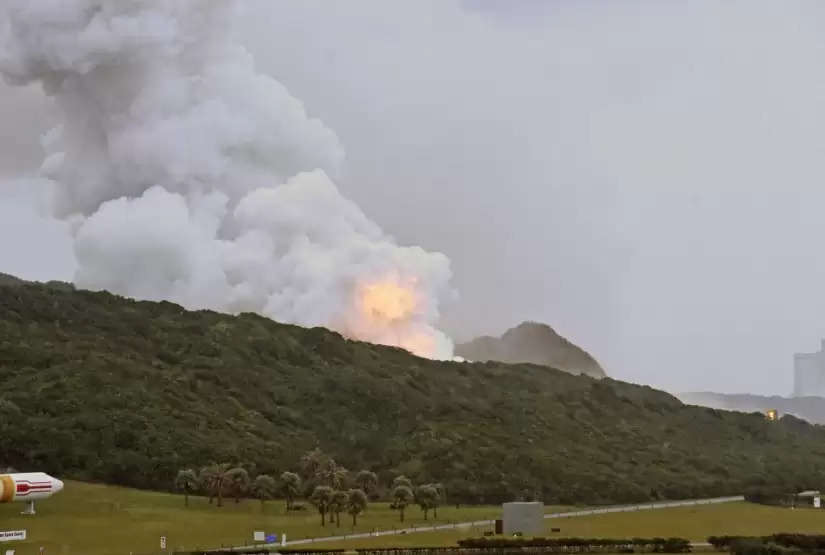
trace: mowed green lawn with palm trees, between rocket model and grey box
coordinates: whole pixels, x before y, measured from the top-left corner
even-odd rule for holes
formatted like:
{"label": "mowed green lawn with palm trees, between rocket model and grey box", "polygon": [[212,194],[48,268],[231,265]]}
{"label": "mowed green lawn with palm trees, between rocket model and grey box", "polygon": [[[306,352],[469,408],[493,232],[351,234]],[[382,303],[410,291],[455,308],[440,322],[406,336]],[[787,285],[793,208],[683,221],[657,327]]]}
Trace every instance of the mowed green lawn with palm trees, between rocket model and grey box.
{"label": "mowed green lawn with palm trees, between rocket model and grey box", "polygon": [[[341,515],[341,527],[320,525],[312,506],[305,512],[286,515],[282,501],[261,507],[260,502],[225,500],[222,508],[209,505],[202,497],[138,491],[127,488],[67,482],[51,499],[37,504],[37,515],[22,516],[18,503],[0,505],[0,530],[27,529],[29,539],[0,546],[15,548],[16,555],[38,554],[40,546],[48,555],[129,555],[158,551],[160,536],[168,538],[170,549],[252,543],[252,532],[286,533],[288,539],[338,535],[352,532],[351,517]],[[550,510],[548,508],[548,510]],[[498,507],[441,507],[438,523],[495,518]],[[432,514],[428,524],[434,522]],[[357,532],[424,523],[417,507],[409,507],[403,526],[398,513],[385,503],[372,503],[358,519]]]}

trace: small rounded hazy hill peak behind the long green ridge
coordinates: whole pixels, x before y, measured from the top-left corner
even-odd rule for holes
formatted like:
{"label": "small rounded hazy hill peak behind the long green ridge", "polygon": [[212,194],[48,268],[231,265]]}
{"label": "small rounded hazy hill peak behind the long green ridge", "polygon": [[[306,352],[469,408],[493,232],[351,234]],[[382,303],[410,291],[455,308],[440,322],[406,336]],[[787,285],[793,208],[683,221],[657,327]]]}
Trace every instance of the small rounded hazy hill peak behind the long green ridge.
{"label": "small rounded hazy hill peak behind the long green ridge", "polygon": [[589,353],[560,336],[550,326],[537,322],[522,322],[501,337],[477,337],[456,345],[455,351],[468,360],[530,362],[571,374],[605,377],[604,370]]}

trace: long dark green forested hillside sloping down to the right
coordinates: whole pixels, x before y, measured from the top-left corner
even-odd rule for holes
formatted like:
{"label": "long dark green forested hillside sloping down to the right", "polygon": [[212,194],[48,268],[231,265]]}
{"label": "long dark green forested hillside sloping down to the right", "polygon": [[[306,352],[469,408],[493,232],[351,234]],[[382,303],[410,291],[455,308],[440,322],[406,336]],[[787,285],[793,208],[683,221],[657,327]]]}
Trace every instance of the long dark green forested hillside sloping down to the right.
{"label": "long dark green forested hillside sloping down to the right", "polygon": [[319,445],[452,499],[626,502],[825,483],[825,429],[529,364],[436,362],[260,316],[0,285],[0,466],[168,488]]}

